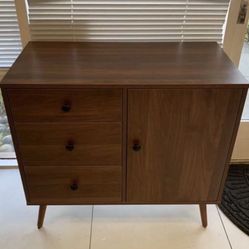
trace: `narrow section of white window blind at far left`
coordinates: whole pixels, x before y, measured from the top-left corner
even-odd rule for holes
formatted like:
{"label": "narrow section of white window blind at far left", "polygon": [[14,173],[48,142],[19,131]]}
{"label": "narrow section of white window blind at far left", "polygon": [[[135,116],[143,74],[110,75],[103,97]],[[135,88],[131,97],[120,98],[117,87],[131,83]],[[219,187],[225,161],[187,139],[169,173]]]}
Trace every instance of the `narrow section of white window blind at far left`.
{"label": "narrow section of white window blind at far left", "polygon": [[14,0],[0,0],[0,68],[10,67],[22,44]]}

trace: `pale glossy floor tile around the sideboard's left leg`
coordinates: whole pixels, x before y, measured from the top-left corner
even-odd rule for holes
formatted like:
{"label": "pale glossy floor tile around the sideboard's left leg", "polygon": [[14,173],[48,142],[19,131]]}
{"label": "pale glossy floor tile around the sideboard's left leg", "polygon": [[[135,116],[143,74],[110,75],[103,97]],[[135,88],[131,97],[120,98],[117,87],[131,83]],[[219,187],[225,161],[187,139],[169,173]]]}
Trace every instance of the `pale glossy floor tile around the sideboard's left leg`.
{"label": "pale glossy floor tile around the sideboard's left leg", "polygon": [[1,249],[89,248],[92,206],[49,206],[41,230],[37,211],[25,204],[18,170],[0,170]]}

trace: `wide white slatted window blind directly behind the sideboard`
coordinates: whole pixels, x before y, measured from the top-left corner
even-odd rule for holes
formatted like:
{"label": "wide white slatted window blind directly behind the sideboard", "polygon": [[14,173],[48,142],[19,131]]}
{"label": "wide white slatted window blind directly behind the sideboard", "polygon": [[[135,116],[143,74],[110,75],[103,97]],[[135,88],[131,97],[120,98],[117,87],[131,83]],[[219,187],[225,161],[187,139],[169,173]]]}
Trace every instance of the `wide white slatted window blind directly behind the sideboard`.
{"label": "wide white slatted window blind directly behind the sideboard", "polygon": [[217,41],[229,0],[29,0],[33,40]]}

